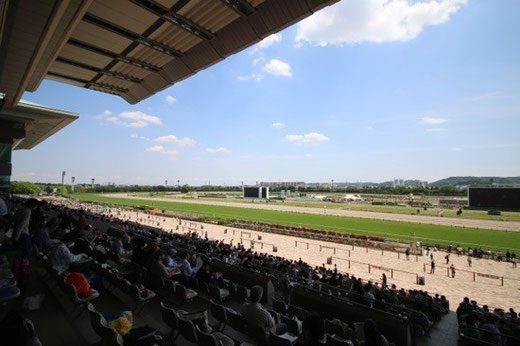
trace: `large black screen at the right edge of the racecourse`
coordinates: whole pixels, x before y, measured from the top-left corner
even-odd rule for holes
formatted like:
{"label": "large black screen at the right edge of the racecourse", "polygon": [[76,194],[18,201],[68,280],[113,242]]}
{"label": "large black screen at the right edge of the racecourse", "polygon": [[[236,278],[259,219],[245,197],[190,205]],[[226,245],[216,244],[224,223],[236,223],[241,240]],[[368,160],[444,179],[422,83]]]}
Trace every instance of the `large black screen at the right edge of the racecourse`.
{"label": "large black screen at the right edge of the racecourse", "polygon": [[518,187],[470,187],[468,197],[474,208],[520,209]]}

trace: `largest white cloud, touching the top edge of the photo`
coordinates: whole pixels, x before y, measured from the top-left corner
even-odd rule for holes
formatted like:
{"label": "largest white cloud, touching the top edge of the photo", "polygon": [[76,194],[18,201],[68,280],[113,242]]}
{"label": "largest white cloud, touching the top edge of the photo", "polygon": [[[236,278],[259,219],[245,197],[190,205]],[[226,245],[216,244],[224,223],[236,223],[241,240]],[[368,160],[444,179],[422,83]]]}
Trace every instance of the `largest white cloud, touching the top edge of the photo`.
{"label": "largest white cloud, touching the top edge of the photo", "polygon": [[447,22],[467,0],[343,0],[298,24],[296,44],[342,46],[408,41],[428,25]]}

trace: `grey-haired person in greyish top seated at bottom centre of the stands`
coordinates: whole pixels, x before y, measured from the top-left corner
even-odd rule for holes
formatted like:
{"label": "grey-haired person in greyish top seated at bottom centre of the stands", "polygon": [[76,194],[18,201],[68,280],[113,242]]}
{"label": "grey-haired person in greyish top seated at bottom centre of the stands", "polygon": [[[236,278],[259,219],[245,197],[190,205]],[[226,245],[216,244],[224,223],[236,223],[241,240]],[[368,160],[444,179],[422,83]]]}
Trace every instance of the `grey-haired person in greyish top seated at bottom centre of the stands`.
{"label": "grey-haired person in greyish top seated at bottom centre of the stands", "polygon": [[260,304],[263,295],[264,289],[261,286],[255,285],[251,287],[250,301],[242,306],[242,317],[244,317],[248,325],[262,327],[266,335],[270,331],[277,335],[285,333],[287,325],[285,323],[276,323],[269,311]]}

